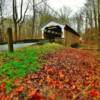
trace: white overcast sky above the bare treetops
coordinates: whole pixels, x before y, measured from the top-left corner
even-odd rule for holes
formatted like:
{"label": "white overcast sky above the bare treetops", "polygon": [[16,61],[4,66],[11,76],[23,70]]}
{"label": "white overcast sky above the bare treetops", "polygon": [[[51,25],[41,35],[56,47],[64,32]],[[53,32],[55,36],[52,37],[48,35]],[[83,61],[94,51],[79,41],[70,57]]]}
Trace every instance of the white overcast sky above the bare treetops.
{"label": "white overcast sky above the bare treetops", "polygon": [[84,6],[86,0],[49,0],[48,3],[54,10],[58,10],[65,6],[70,7],[73,12],[77,12]]}

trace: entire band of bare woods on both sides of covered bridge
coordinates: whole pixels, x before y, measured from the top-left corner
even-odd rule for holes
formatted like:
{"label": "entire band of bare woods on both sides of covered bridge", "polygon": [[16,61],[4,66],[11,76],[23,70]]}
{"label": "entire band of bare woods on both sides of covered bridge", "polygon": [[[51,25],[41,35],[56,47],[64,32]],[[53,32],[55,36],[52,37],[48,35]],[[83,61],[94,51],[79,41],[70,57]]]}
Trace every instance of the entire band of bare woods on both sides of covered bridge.
{"label": "entire band of bare woods on both sides of covered bridge", "polygon": [[[41,38],[41,28],[49,21],[72,26],[86,40],[100,40],[100,0],[86,0],[72,15],[62,7],[55,11],[48,0],[0,0],[0,40],[6,41],[6,29],[12,27],[14,41]],[[99,43],[98,43],[99,44]],[[99,46],[99,45],[98,45]],[[100,46],[99,46],[100,47]]]}

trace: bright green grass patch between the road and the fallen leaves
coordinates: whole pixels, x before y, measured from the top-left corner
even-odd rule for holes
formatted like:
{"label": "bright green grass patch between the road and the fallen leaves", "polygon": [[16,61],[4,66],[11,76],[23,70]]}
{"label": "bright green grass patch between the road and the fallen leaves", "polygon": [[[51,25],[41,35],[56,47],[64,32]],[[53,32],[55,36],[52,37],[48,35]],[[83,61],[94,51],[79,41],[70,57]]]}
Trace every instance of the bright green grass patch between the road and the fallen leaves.
{"label": "bright green grass patch between the road and the fallen leaves", "polygon": [[2,81],[14,80],[24,77],[30,72],[36,72],[41,68],[38,58],[49,52],[62,48],[61,45],[48,43],[41,46],[30,46],[18,49],[14,53],[0,53],[0,77]]}

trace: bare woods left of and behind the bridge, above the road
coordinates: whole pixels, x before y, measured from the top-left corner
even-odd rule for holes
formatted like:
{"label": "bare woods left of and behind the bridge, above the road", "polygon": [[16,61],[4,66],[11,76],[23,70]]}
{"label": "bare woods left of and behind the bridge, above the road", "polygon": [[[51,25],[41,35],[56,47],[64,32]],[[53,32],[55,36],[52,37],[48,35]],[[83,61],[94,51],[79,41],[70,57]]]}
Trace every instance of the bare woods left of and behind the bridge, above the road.
{"label": "bare woods left of and behind the bridge, above the road", "polygon": [[[55,11],[48,0],[0,0],[0,37],[6,41],[6,28],[13,28],[14,41],[41,38],[41,27],[49,21],[69,23],[70,8]],[[8,13],[9,12],[9,13]]]}

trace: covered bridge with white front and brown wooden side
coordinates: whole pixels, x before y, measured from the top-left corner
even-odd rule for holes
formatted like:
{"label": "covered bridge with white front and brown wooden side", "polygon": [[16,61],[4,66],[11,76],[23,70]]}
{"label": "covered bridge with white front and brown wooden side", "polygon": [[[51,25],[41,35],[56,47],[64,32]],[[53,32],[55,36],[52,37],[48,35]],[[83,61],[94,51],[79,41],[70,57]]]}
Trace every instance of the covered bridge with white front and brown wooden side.
{"label": "covered bridge with white front and brown wooden side", "polygon": [[[56,29],[55,29],[56,27]],[[61,28],[61,32],[59,30],[57,30]],[[49,22],[47,25],[45,25],[42,29],[42,39],[45,38],[46,33],[49,33],[49,37],[50,34],[51,36],[53,35],[53,33],[61,33],[61,38],[63,39],[63,43],[66,47],[74,47],[74,46],[78,46],[78,44],[80,43],[80,35],[79,33],[77,33],[74,29],[72,29],[70,26],[66,25],[62,25],[56,22]]]}

